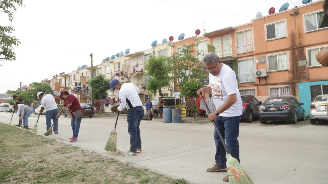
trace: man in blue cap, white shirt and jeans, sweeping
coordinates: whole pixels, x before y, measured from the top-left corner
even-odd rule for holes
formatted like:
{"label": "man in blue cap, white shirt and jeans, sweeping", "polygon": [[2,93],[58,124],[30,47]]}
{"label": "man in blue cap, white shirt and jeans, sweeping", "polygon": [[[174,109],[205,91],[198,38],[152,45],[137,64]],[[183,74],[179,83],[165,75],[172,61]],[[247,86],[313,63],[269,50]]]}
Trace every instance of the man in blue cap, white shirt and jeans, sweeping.
{"label": "man in blue cap, white shirt and jeans, sweeping", "polygon": [[128,132],[130,134],[130,150],[123,153],[124,156],[136,156],[141,150],[140,122],[145,114],[142,102],[139,97],[139,88],[133,83],[120,83],[113,79],[110,83],[110,91],[118,94],[120,105],[117,111],[128,109]]}

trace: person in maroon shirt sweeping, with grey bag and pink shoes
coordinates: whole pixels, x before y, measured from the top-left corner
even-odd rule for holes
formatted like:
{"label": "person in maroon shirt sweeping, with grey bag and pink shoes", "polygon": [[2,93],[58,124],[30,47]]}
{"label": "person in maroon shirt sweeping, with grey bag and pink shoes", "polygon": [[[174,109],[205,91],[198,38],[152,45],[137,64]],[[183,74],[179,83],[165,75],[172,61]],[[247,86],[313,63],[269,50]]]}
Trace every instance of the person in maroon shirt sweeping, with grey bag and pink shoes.
{"label": "person in maroon shirt sweeping, with grey bag and pink shoes", "polygon": [[[82,118],[76,119],[74,117],[73,112],[80,109],[82,114],[84,114],[83,109],[80,105],[80,102],[77,100],[77,98],[74,95],[69,94],[67,91],[60,91],[59,98],[62,98],[62,99],[64,98],[63,109],[64,110],[68,109],[71,113],[71,116],[72,116],[71,126],[72,126],[72,130],[73,130],[73,137],[69,138],[69,140],[71,140],[70,142],[75,142],[77,140],[77,136],[79,134]],[[57,115],[57,118],[59,118],[59,116],[60,116],[60,114]]]}

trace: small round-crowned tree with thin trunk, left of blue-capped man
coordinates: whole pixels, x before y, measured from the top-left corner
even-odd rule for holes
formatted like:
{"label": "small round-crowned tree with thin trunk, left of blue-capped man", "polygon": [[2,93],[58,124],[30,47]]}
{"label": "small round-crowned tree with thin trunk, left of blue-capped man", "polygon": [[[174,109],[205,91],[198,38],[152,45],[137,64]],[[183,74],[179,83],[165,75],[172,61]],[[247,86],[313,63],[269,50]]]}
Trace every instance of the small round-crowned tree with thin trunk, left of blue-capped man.
{"label": "small round-crowned tree with thin trunk, left of blue-capped man", "polygon": [[[93,97],[98,97],[100,102],[101,99],[107,98],[107,91],[111,89],[110,83],[111,81],[105,75],[97,75],[89,80],[89,84],[93,90]],[[101,115],[101,109],[102,103],[100,103],[99,115]]]}

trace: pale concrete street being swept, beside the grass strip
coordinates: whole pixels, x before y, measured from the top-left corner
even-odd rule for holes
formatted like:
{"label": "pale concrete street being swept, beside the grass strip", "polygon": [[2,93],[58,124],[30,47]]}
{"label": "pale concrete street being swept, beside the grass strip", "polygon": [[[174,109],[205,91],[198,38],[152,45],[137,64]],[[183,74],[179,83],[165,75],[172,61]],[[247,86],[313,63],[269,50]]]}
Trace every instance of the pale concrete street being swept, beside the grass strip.
{"label": "pale concrete street being swept, beside the grass strip", "polygon": [[[11,113],[1,112],[0,121],[9,123]],[[197,184],[228,184],[222,181],[227,173],[208,173],[214,163],[213,124],[163,123],[142,120],[143,152],[124,157],[121,153],[104,151],[116,117],[83,118],[77,142],[72,137],[71,118],[59,119],[59,134],[49,137],[68,144],[96,151],[99,154],[132,162],[153,171],[184,178]],[[37,116],[32,114],[33,128]],[[18,118],[13,118],[12,125]],[[117,149],[130,147],[126,117],[117,123]],[[40,117],[37,133],[46,132],[45,117]],[[14,135],[13,135],[14,138]],[[260,124],[241,122],[239,131],[240,159],[243,168],[256,184],[327,184],[328,123],[311,125],[299,121],[296,125],[274,122]]]}

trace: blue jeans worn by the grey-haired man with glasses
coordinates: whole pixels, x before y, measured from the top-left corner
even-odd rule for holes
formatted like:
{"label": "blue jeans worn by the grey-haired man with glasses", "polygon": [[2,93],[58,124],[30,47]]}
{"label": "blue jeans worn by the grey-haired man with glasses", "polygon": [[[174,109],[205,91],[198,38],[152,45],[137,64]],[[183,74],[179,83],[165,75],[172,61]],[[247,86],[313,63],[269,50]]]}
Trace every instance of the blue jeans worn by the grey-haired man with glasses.
{"label": "blue jeans worn by the grey-haired man with glasses", "polygon": [[[225,139],[228,151],[230,152],[232,157],[238,160],[239,163],[240,163],[239,143],[237,138],[239,136],[240,118],[241,116],[235,116],[235,117],[218,116],[217,118],[214,119],[214,123],[219,129],[222,137]],[[226,168],[227,167],[226,151],[221,143],[219,135],[217,135],[215,128],[214,128],[214,140],[215,140],[215,147],[216,147],[215,163],[220,168]]]}

